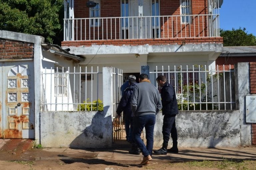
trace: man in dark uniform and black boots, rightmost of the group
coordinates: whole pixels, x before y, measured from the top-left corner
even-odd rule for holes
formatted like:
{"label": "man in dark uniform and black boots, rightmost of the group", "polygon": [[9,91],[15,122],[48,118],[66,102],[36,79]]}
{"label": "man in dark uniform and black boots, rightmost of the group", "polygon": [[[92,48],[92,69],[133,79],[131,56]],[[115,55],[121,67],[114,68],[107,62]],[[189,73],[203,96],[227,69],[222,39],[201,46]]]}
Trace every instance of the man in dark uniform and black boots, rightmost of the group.
{"label": "man in dark uniform and black boots, rightmost of the group", "polygon": [[[164,115],[163,120],[163,146],[158,150],[154,150],[154,153],[157,155],[166,155],[167,151],[178,153],[178,135],[175,125],[175,117],[178,112],[178,104],[176,99],[176,94],[173,86],[166,82],[166,78],[163,75],[160,75],[156,79],[161,89],[161,98],[162,98],[162,114]],[[168,141],[170,139],[170,133],[172,137],[173,147],[167,149]]]}

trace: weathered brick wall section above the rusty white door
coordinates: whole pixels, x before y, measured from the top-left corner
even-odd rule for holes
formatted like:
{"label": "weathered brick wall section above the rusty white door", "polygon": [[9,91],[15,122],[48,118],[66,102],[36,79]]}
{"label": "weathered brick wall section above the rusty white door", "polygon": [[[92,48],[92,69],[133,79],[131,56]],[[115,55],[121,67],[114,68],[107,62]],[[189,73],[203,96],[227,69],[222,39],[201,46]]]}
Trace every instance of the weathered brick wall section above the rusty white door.
{"label": "weathered brick wall section above the rusty white door", "polygon": [[0,60],[28,58],[34,58],[34,44],[0,39]]}

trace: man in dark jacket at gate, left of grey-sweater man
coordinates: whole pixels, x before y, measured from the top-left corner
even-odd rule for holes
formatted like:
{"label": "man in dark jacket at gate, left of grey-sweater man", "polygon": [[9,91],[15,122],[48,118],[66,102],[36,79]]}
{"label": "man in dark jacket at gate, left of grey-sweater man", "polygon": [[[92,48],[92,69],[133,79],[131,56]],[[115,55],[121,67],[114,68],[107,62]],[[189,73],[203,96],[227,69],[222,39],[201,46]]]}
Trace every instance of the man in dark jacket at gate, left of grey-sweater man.
{"label": "man in dark jacket at gate, left of grey-sweater man", "polygon": [[133,93],[133,88],[136,85],[136,80],[134,78],[129,79],[129,86],[124,90],[124,94],[118,104],[116,113],[120,117],[123,112],[125,121],[125,132],[126,140],[133,143],[132,129],[133,129],[133,113],[131,108],[131,98]]}

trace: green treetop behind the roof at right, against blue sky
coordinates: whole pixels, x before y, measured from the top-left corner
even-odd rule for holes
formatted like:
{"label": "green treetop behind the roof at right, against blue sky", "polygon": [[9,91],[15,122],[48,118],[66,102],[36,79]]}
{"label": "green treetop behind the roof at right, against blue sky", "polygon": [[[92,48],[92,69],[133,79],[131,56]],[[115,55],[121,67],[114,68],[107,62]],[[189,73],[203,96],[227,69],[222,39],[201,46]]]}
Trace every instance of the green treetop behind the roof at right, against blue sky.
{"label": "green treetop behind the roof at right, against blue sky", "polygon": [[256,45],[256,37],[247,34],[245,28],[237,30],[220,30],[220,36],[223,37],[223,46],[253,46]]}

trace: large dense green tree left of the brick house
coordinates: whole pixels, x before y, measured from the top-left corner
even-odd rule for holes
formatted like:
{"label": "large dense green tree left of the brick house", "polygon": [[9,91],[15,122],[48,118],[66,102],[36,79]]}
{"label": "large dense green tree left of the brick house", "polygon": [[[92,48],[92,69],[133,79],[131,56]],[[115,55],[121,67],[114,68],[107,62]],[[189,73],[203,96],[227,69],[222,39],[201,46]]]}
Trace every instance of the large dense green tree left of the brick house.
{"label": "large dense green tree left of the brick house", "polygon": [[60,44],[63,0],[0,0],[0,30],[38,35]]}

